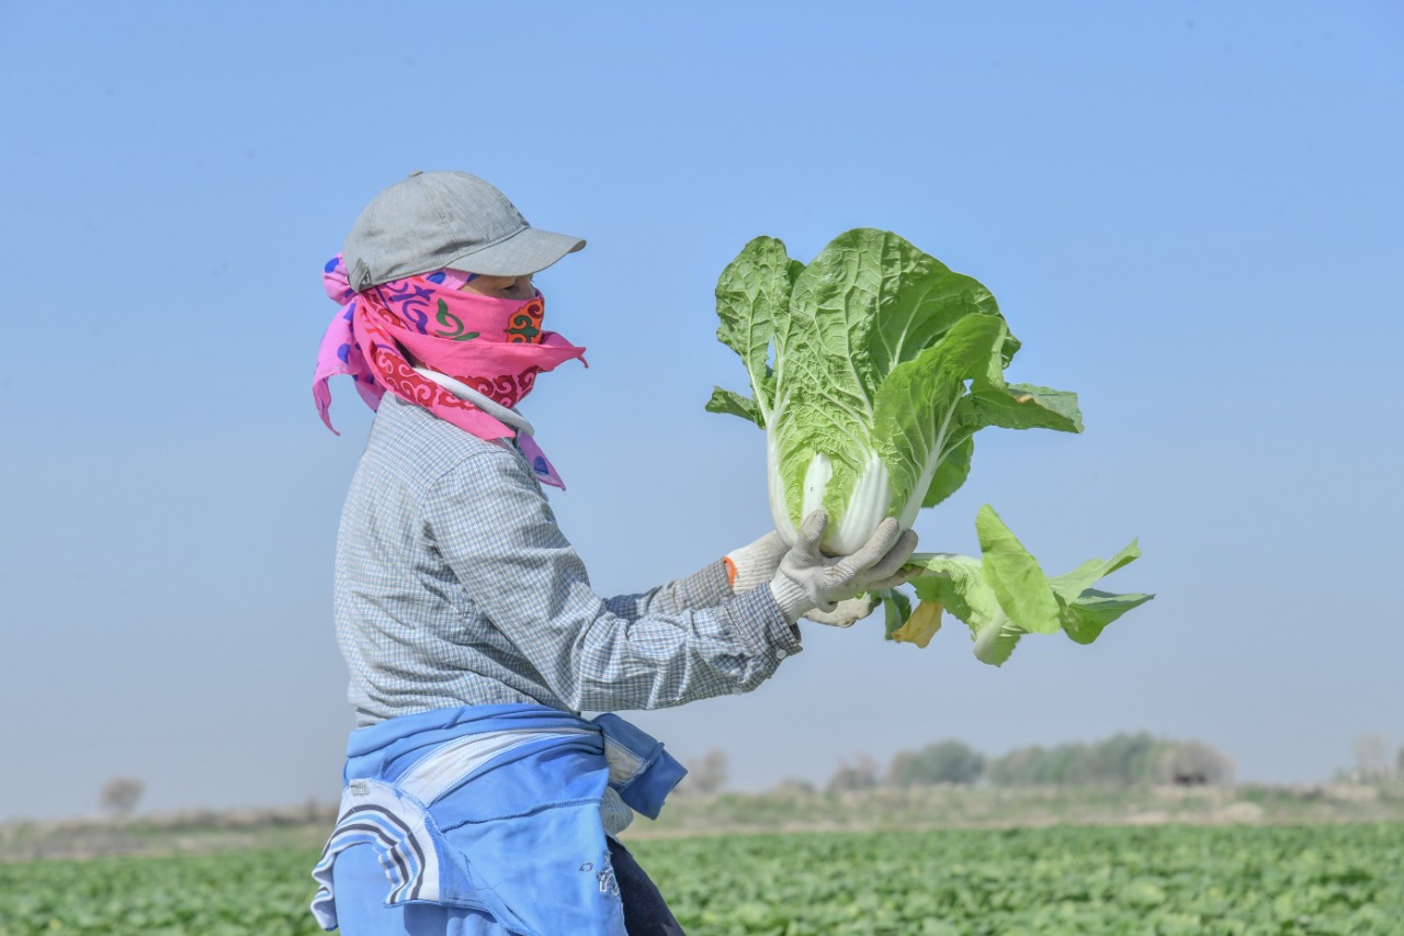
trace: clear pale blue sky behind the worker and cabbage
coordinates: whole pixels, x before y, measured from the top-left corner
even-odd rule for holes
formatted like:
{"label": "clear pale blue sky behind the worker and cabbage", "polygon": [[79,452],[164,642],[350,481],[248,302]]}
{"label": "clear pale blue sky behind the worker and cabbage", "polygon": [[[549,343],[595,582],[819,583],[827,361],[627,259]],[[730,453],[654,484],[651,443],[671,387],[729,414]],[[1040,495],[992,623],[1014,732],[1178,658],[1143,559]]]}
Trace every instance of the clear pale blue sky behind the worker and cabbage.
{"label": "clear pale blue sky behind the worker and cabbage", "polygon": [[998,298],[1082,436],[979,440],[1045,568],[1139,537],[1158,597],[1002,669],[956,625],[812,627],[750,696],[636,721],[736,786],[959,738],[1198,738],[1247,780],[1404,743],[1404,14],[1304,3],[0,6],[0,819],[334,797],[331,552],[369,426],[310,396],[364,204],[479,174],[590,240],[539,277],[590,349],[524,405],[604,593],[768,526],[712,290],[753,236],[901,233]]}

